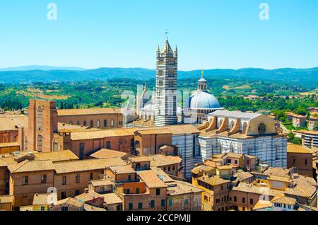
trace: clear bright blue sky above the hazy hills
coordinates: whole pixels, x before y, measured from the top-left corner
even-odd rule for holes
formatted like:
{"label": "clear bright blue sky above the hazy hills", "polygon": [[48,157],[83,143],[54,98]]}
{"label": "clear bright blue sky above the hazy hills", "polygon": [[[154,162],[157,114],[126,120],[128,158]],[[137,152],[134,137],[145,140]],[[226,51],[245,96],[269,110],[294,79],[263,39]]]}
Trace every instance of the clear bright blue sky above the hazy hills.
{"label": "clear bright blue sky above the hazy hills", "polygon": [[0,1],[0,68],[155,68],[166,29],[181,70],[318,67],[317,0],[10,0]]}

